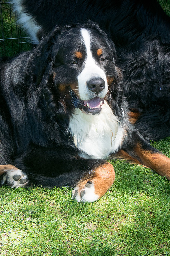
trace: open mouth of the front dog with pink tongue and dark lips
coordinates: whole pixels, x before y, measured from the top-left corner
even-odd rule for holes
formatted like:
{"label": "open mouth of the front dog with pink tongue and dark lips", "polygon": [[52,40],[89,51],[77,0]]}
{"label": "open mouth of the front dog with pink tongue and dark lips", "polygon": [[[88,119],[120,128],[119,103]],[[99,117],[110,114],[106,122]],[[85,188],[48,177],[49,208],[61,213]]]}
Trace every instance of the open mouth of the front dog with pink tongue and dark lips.
{"label": "open mouth of the front dog with pink tongue and dark lips", "polygon": [[80,100],[75,95],[72,97],[72,104],[75,108],[80,108],[81,111],[87,114],[98,114],[101,111],[101,106],[104,104],[104,98],[95,97],[90,100]]}

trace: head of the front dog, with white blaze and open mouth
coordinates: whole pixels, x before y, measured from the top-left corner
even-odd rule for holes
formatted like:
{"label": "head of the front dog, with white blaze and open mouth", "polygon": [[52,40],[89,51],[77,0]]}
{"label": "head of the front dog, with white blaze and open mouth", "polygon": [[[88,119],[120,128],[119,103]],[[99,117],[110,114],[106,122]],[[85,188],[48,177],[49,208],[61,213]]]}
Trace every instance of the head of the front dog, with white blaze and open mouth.
{"label": "head of the front dog, with white blaze and open mouth", "polygon": [[98,114],[118,79],[115,47],[95,23],[56,27],[39,45],[38,83],[57,88],[75,108]]}

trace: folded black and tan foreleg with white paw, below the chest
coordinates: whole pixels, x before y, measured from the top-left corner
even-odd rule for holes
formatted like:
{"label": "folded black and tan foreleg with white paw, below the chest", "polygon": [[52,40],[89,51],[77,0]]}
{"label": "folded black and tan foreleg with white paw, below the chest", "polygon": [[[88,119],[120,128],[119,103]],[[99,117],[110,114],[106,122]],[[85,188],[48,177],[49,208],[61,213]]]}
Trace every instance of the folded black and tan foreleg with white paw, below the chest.
{"label": "folded black and tan foreleg with white paw, below the chest", "polygon": [[[32,173],[32,181],[43,187],[73,187],[72,199],[77,202],[93,202],[103,196],[115,180],[112,164],[106,160],[78,159],[53,166],[53,176]],[[63,169],[64,168],[64,169]],[[60,173],[60,174],[59,174]]]}

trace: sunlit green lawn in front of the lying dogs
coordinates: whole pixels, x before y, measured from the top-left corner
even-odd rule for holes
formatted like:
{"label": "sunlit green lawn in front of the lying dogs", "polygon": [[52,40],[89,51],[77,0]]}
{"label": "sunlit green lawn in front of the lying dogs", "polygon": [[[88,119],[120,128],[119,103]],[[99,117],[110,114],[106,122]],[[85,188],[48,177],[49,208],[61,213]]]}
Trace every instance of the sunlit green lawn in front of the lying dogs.
{"label": "sunlit green lawn in front of the lying dogs", "polygon": [[[170,157],[170,138],[152,145]],[[94,203],[74,202],[71,188],[1,187],[0,256],[170,255],[170,182],[111,163],[115,182]]]}

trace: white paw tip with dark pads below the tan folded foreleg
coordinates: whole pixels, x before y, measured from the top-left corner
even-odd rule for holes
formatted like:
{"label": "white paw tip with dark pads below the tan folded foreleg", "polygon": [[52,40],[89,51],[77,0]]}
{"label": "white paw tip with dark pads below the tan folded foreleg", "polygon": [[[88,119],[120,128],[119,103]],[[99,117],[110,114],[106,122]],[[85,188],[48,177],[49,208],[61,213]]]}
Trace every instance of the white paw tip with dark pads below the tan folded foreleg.
{"label": "white paw tip with dark pads below the tan folded foreleg", "polygon": [[95,194],[95,187],[92,181],[88,181],[83,189],[76,186],[72,190],[72,199],[77,202],[91,203],[99,198],[100,196]]}

